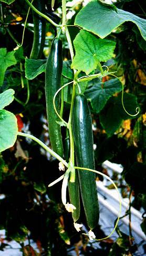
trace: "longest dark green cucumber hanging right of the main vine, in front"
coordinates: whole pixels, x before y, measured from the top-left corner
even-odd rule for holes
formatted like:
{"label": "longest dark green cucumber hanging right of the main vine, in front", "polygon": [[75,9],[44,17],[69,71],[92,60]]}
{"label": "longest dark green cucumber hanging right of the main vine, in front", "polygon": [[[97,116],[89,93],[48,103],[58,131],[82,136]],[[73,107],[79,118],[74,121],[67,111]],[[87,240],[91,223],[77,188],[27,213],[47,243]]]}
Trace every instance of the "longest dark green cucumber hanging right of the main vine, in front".
{"label": "longest dark green cucumber hanging right of the main vine, in front", "polygon": [[[82,94],[75,96],[72,127],[77,166],[95,169],[91,113],[87,99]],[[86,170],[78,170],[78,175],[87,224],[93,229],[99,221],[96,175]]]}

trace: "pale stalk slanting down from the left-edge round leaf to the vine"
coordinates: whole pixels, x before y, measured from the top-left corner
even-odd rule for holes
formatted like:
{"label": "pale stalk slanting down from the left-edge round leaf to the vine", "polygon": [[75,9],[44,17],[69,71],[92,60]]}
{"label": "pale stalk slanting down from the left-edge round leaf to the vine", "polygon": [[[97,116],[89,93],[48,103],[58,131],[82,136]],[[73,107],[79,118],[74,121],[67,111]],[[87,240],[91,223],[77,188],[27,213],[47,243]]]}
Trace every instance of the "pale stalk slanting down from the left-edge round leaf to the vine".
{"label": "pale stalk slanting down from the left-edge round leaf to the vine", "polygon": [[58,154],[56,154],[53,150],[51,150],[45,143],[43,143],[42,141],[40,141],[39,139],[37,139],[35,136],[28,134],[28,133],[23,133],[23,132],[18,132],[17,135],[20,136],[24,136],[27,137],[29,139],[34,140],[35,142],[37,142],[40,146],[42,146],[47,152],[49,152],[51,155],[53,155],[56,159],[58,159],[58,161],[62,162],[67,168],[68,168],[68,163],[62,159],[61,156],[59,156]]}

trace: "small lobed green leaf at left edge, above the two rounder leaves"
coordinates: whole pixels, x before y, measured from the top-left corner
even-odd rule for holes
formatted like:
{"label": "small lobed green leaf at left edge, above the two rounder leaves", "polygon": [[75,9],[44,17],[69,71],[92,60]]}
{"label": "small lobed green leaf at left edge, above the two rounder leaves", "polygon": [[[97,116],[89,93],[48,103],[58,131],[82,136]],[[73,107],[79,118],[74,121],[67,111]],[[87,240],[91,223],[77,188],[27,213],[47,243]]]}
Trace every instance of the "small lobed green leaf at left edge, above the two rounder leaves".
{"label": "small lobed green leaf at left edge, above the two rounder leaves", "polygon": [[0,86],[3,85],[7,68],[17,63],[14,54],[15,51],[7,53],[6,48],[0,48]]}

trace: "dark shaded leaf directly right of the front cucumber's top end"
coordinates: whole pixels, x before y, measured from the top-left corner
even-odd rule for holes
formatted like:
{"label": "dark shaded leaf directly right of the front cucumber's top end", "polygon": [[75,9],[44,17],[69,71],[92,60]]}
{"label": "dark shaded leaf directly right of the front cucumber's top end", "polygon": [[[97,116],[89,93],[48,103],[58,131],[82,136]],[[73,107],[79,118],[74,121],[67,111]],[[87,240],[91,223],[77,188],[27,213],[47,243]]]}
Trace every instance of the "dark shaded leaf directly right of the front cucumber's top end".
{"label": "dark shaded leaf directly right of the front cucumber's top end", "polygon": [[91,102],[92,109],[99,113],[106,105],[108,99],[116,92],[122,90],[122,84],[118,78],[111,79],[105,83],[92,82],[93,86],[86,90],[85,96]]}

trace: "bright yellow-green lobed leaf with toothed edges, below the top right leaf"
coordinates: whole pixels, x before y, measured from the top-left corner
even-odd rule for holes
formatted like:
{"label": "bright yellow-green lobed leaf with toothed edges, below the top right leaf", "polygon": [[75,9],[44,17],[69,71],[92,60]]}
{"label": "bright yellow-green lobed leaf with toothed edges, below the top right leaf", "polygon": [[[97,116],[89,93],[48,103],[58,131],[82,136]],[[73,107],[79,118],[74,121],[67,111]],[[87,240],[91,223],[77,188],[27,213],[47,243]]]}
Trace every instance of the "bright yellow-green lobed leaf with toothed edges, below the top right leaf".
{"label": "bright yellow-green lobed leaf with toothed edges, below the top right leaf", "polygon": [[71,68],[84,71],[87,75],[96,69],[99,61],[108,61],[113,57],[116,43],[81,30],[74,40],[76,55]]}

